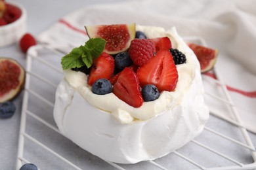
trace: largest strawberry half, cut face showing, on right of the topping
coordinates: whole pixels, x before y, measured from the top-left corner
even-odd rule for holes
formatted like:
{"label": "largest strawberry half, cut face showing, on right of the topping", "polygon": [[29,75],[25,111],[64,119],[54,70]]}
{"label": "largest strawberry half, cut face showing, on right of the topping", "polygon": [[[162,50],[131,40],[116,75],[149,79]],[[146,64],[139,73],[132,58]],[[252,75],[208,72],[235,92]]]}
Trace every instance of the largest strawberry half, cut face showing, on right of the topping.
{"label": "largest strawberry half, cut face showing, on right of the topping", "polygon": [[161,92],[173,91],[178,81],[178,73],[169,50],[160,50],[148,63],[137,70],[140,86],[154,84]]}

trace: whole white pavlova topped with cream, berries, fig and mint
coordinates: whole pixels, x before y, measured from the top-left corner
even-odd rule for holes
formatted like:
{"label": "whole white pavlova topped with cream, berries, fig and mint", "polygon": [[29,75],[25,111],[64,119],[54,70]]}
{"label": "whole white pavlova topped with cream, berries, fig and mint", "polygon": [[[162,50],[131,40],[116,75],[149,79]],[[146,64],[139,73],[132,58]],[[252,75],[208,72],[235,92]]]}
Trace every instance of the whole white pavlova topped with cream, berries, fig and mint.
{"label": "whole white pavlova topped with cream, berries, fig and mint", "polygon": [[175,27],[85,27],[89,41],[62,58],[54,120],[106,161],[165,156],[199,135],[209,118],[200,63]]}

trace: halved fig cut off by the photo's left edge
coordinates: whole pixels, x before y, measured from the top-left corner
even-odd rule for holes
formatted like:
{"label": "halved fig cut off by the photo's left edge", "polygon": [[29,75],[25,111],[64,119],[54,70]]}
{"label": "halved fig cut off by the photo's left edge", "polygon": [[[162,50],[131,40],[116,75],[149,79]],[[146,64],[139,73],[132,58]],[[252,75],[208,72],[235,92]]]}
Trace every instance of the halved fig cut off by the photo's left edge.
{"label": "halved fig cut off by the photo's left edge", "polygon": [[24,88],[25,78],[18,61],[0,57],[0,103],[14,99]]}

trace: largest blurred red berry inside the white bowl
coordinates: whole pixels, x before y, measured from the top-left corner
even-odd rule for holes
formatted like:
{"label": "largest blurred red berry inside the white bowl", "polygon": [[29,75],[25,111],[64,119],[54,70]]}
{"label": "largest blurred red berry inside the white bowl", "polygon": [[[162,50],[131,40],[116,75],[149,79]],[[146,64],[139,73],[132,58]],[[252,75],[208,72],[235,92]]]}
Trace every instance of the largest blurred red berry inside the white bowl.
{"label": "largest blurred red berry inside the white bowl", "polygon": [[11,5],[9,3],[6,3],[6,10],[5,10],[5,13],[3,14],[3,18],[5,18],[5,21],[7,23],[11,23],[18,20],[21,14],[22,14],[22,11],[18,7]]}

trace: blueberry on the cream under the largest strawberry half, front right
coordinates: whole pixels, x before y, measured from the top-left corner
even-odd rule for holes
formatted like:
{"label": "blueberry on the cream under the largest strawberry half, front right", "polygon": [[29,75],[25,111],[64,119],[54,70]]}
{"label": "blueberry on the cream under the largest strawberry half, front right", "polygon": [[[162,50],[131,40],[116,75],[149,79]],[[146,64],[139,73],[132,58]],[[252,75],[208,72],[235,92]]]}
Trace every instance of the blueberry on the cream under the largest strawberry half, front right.
{"label": "blueberry on the cream under the largest strawberry half, front right", "polygon": [[142,88],[142,97],[144,101],[154,101],[158,99],[159,95],[158,88],[153,84],[148,84]]}

